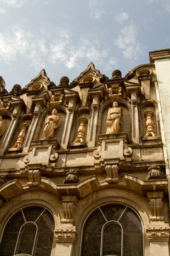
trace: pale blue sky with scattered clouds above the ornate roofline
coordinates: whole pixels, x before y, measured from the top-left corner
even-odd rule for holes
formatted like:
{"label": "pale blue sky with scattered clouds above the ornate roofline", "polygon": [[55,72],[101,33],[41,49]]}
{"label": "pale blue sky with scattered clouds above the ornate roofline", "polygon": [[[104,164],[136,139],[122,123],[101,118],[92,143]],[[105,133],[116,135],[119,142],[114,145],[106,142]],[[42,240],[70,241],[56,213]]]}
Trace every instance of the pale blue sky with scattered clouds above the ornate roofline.
{"label": "pale blue sky with scattered clouds above the ornate roofline", "polygon": [[56,85],[92,61],[111,78],[170,48],[170,0],[0,0],[0,75],[9,92],[45,68]]}

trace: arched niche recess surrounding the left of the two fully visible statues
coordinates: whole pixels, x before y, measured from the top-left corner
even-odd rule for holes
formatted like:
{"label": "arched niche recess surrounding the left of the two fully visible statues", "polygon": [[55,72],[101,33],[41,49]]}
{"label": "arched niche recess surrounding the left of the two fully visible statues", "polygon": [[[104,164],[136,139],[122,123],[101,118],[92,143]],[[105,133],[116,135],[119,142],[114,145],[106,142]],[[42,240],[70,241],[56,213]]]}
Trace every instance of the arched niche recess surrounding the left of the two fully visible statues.
{"label": "arched niche recess surrounding the left of the two fully visible statues", "polygon": [[56,109],[58,114],[61,114],[61,123],[60,126],[57,127],[54,131],[54,138],[57,139],[58,143],[61,143],[62,140],[62,134],[64,131],[64,124],[66,119],[67,110],[63,106],[56,106],[56,107],[49,107],[44,112],[42,112],[42,115],[40,117],[40,120],[38,122],[38,125],[35,129],[35,135],[33,139],[44,139],[44,129],[45,129],[45,118],[51,114],[52,110]]}

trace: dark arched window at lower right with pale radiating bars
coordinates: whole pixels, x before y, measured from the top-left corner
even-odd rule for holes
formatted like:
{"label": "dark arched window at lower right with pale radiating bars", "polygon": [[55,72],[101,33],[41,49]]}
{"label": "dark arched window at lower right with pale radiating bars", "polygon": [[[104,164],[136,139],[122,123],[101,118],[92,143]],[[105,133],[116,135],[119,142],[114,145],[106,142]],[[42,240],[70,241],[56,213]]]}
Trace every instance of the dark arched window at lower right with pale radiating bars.
{"label": "dark arched window at lower right with pale radiating bars", "polygon": [[94,210],[84,224],[81,256],[142,256],[142,223],[128,206]]}

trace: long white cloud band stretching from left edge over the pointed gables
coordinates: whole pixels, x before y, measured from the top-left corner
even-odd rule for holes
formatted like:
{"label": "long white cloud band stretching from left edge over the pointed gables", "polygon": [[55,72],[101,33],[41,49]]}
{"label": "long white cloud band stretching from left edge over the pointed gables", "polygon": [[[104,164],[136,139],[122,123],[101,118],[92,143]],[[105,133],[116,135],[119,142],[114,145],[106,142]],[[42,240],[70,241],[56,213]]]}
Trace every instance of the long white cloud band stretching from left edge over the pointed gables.
{"label": "long white cloud band stretching from left edge over the pointed gables", "polygon": [[22,60],[35,70],[50,64],[64,65],[70,69],[78,66],[81,60],[101,65],[111,53],[111,49],[102,47],[101,41],[93,33],[79,36],[75,41],[72,32],[61,27],[57,28],[54,38],[52,41],[43,35],[42,38],[35,37],[21,25],[12,26],[8,32],[0,33],[1,62],[13,64]]}

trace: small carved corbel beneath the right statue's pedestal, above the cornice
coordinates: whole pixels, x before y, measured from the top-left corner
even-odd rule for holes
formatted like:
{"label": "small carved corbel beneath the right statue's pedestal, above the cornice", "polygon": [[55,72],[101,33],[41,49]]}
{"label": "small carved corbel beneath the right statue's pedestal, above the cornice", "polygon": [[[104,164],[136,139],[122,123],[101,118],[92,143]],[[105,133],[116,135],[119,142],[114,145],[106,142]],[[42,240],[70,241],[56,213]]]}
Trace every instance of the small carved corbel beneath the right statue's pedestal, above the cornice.
{"label": "small carved corbel beneath the right statue's pedestal, above the cornice", "polygon": [[115,183],[118,182],[118,164],[113,164],[113,165],[107,165],[105,167],[106,170],[106,182],[108,183]]}

